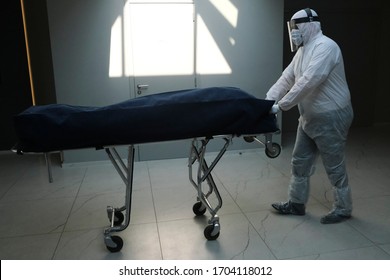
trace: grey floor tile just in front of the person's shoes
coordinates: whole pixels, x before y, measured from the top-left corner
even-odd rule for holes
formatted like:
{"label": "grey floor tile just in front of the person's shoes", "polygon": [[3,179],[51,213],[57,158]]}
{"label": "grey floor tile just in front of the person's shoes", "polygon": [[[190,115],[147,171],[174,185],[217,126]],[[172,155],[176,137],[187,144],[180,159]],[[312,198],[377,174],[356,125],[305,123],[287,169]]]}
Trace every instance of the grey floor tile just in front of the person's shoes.
{"label": "grey floor tile just in front of the person's shoes", "polygon": [[348,222],[334,225],[320,224],[320,217],[325,212],[323,206],[311,205],[310,213],[305,216],[285,216],[269,211],[247,215],[278,259],[373,245]]}

